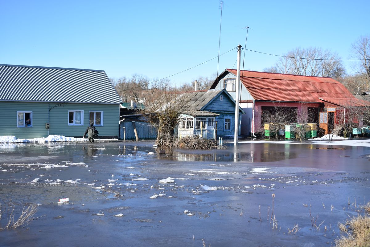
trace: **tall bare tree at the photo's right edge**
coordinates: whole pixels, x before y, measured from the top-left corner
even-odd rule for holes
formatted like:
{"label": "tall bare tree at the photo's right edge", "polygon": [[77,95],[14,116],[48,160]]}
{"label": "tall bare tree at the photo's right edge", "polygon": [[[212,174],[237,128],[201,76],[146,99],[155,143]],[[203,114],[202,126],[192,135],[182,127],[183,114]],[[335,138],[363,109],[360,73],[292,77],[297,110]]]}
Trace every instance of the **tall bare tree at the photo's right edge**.
{"label": "tall bare tree at the photo's right edge", "polygon": [[360,36],[351,46],[355,58],[361,59],[356,65],[357,73],[366,76],[367,89],[370,88],[370,35]]}

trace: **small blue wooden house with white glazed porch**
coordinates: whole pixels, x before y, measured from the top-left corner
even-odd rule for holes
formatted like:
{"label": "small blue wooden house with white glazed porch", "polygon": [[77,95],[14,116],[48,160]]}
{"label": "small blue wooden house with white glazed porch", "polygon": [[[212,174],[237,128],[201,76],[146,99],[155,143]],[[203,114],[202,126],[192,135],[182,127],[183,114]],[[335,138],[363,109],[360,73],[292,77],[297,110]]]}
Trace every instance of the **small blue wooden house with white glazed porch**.
{"label": "small blue wooden house with white glazed porch", "polygon": [[[234,136],[235,100],[225,89],[193,91],[182,96],[189,99],[189,104],[179,117],[179,138],[193,134],[207,139]],[[239,107],[239,119],[244,113]]]}

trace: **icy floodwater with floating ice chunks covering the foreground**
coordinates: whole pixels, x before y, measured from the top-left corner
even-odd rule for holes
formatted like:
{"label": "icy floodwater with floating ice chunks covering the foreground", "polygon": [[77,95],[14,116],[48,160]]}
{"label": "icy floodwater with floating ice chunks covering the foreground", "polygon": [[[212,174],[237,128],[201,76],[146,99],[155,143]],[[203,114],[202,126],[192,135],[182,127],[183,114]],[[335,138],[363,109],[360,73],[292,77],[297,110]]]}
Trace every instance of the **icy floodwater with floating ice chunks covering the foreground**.
{"label": "icy floodwater with floating ice chunks covering the foreground", "polygon": [[10,200],[39,204],[0,246],[332,246],[370,201],[370,147],[152,144],[0,144],[0,227]]}

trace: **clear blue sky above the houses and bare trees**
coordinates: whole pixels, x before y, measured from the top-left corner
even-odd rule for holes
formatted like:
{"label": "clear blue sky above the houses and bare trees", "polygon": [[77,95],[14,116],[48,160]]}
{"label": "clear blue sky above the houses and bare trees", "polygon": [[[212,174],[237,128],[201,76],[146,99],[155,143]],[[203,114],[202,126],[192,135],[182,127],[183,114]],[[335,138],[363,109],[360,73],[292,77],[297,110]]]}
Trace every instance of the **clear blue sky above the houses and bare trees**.
{"label": "clear blue sky above the houses and bare trees", "polygon": [[[359,36],[369,35],[370,1],[225,0],[220,54],[240,43],[282,55],[319,47],[350,58]],[[164,78],[218,55],[221,9],[198,1],[6,1],[0,8],[0,63],[105,70]],[[242,53],[243,56],[243,53]],[[174,85],[233,68],[236,49],[172,76]],[[244,69],[262,71],[277,57],[245,54]],[[351,73],[351,62],[344,62]],[[236,68],[236,67],[234,67]]]}

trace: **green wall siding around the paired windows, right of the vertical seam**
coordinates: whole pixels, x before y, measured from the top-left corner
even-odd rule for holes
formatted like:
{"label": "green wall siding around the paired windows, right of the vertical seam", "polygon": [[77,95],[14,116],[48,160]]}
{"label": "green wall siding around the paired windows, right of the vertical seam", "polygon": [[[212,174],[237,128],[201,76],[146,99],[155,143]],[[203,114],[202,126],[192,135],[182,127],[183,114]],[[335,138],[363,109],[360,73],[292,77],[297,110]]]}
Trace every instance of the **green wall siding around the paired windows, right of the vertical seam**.
{"label": "green wall siding around the paired windows, right of the vertical seam", "polygon": [[[89,111],[103,111],[103,126],[95,126],[99,137],[119,136],[120,107],[118,104],[78,104],[58,105],[50,103],[50,135],[82,137],[89,123]],[[83,126],[68,125],[69,110],[83,110]]]}

